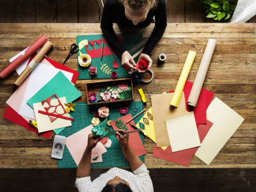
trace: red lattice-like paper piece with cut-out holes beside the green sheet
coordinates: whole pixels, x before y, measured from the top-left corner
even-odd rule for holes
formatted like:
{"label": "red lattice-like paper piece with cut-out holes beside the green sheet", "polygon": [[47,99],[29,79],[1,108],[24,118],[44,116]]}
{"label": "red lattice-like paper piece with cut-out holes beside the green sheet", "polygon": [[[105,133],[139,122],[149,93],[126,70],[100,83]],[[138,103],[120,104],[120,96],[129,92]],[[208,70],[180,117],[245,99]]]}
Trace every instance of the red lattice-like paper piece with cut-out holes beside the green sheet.
{"label": "red lattice-like paper piece with cut-out holes beside the green sheet", "polygon": [[[57,105],[54,105],[54,106],[51,105],[51,99],[52,99],[52,97],[55,97],[55,98],[58,100],[58,104],[57,104]],[[44,106],[44,103],[45,103],[45,102],[47,102],[47,104],[48,104],[49,106],[45,107],[45,106]],[[60,102],[60,100],[59,100],[59,98],[57,97],[56,94],[54,94],[54,95],[52,95],[51,97],[49,97],[49,98],[43,100],[43,101],[42,101],[42,105],[44,106],[44,109],[45,109],[45,111],[46,111],[47,113],[49,113],[49,110],[50,110],[50,109],[51,109],[51,113],[54,113],[55,115],[64,115],[65,113],[67,113],[67,112],[65,111],[64,107],[61,105],[61,102]],[[61,111],[61,112],[63,112],[63,113],[61,113],[60,110],[57,111],[57,109],[58,109],[59,106],[60,106],[60,108],[63,109],[63,111]],[[52,111],[52,110],[53,110],[53,111]],[[42,111],[42,112],[44,112],[44,111]],[[38,111],[38,113],[40,113],[40,112]],[[46,115],[45,113],[42,113],[42,114]],[[52,116],[49,116],[49,118],[50,118],[50,120],[53,122],[53,121],[56,120],[56,118],[58,118],[58,117],[52,115]]]}

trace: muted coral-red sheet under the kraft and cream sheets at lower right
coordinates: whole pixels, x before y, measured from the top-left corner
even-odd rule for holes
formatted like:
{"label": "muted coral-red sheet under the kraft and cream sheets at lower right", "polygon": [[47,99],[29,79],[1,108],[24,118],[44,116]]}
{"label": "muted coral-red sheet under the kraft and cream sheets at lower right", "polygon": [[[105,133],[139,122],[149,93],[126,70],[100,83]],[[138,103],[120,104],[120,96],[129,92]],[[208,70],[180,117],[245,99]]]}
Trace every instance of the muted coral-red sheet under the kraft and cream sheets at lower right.
{"label": "muted coral-red sheet under the kraft and cream sheets at lower right", "polygon": [[[207,135],[207,132],[211,129],[211,127],[212,122],[210,122],[209,120],[207,120],[207,124],[198,125],[197,131],[201,143],[204,140],[205,136]],[[180,150],[178,152],[173,153],[171,146],[167,147],[166,150],[163,150],[161,147],[155,146],[153,157],[157,157],[159,159],[163,159],[177,164],[182,164],[184,166],[189,166],[191,157],[195,155],[196,150],[198,150],[198,147]]]}

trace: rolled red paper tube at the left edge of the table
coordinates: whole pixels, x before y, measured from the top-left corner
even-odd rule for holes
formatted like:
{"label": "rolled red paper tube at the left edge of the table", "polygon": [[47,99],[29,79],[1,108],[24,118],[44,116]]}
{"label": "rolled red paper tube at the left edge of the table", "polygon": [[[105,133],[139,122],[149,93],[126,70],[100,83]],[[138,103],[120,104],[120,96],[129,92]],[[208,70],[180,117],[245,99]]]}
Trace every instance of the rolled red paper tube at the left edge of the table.
{"label": "rolled red paper tube at the left edge of the table", "polygon": [[24,53],[24,55],[19,56],[16,60],[14,60],[12,63],[7,65],[3,68],[0,72],[0,77],[3,79],[10,75],[13,70],[18,68],[24,61],[26,61],[34,52],[36,52],[40,47],[42,47],[45,42],[47,42],[47,37],[45,35],[42,35],[34,44],[32,44]]}

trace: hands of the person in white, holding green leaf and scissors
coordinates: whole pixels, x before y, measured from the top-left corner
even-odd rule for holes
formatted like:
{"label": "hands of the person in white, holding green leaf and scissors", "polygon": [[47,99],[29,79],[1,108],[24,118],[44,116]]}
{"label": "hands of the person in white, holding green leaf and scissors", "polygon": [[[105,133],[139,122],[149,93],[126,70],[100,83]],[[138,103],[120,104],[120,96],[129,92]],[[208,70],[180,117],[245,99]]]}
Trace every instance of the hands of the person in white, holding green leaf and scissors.
{"label": "hands of the person in white, holding green leaf and scissors", "polygon": [[[125,133],[125,131],[122,129],[116,131],[116,134],[119,137],[119,143],[121,147],[125,148],[128,146],[129,134],[122,135],[121,133]],[[93,138],[93,134],[92,133],[89,134],[87,148],[89,150],[92,150],[101,139],[102,139],[102,136],[100,136],[99,138]]]}

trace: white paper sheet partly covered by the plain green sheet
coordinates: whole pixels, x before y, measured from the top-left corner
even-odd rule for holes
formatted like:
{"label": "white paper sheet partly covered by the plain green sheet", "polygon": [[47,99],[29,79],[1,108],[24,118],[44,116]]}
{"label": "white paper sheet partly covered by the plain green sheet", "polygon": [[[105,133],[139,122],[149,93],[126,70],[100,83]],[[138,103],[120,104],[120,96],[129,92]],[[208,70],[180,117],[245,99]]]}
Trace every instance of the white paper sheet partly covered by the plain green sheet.
{"label": "white paper sheet partly covered by the plain green sheet", "polygon": [[66,72],[55,67],[50,67],[42,63],[38,63],[38,65],[36,65],[31,72],[28,86],[20,106],[19,115],[35,119],[34,110],[29,106],[27,101],[33,97],[33,95],[35,95],[35,93],[38,92],[45,84],[47,84],[52,77],[56,76],[59,71],[61,71],[69,81],[72,80],[73,74],[70,72]]}

